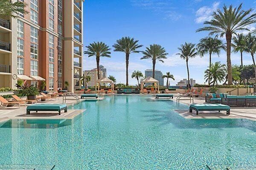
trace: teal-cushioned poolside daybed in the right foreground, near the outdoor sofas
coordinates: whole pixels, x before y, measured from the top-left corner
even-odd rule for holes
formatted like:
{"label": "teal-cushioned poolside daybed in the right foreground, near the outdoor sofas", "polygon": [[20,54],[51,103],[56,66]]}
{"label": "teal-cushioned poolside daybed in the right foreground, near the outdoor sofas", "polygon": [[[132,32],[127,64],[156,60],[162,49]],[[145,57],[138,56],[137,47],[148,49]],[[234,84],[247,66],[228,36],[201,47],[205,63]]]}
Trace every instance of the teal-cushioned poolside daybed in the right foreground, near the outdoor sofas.
{"label": "teal-cushioned poolside daybed in the right foreground, near the outdoor sofas", "polygon": [[192,110],[196,111],[227,111],[227,114],[230,114],[230,106],[222,104],[192,104],[189,106],[189,112],[192,113]]}

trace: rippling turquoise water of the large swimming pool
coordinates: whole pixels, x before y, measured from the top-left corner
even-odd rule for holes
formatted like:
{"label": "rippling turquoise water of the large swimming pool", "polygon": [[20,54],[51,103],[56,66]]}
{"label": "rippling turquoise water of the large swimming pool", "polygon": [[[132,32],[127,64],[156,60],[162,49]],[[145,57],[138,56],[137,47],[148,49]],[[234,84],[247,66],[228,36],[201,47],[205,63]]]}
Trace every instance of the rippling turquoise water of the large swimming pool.
{"label": "rippling turquoise water of the large swimming pool", "polygon": [[72,122],[1,124],[0,164],[54,170],[256,168],[254,121],[184,119],[173,109],[187,106],[150,96],[108,96],[72,108],[86,111]]}

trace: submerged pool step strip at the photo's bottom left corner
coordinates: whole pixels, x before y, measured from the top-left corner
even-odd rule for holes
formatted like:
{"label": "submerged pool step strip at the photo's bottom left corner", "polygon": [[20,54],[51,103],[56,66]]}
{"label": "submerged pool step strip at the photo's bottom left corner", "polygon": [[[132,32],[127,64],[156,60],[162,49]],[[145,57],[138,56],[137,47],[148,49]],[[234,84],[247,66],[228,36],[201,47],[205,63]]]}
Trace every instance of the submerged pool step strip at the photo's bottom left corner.
{"label": "submerged pool step strip at the photo's bottom left corner", "polygon": [[55,165],[0,164],[0,170],[53,170]]}

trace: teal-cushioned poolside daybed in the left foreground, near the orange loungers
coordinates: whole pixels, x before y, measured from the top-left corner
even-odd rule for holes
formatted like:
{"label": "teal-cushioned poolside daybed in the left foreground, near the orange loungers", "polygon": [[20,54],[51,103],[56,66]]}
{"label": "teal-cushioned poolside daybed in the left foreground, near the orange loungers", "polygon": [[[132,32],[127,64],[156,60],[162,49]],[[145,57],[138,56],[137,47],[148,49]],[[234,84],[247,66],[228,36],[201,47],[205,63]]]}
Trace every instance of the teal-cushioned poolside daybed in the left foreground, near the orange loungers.
{"label": "teal-cushioned poolside daybed in the left foreground, near the orange loungers", "polygon": [[26,114],[30,114],[30,111],[58,111],[61,115],[61,111],[67,112],[67,105],[64,104],[41,104],[41,105],[30,105],[26,108]]}

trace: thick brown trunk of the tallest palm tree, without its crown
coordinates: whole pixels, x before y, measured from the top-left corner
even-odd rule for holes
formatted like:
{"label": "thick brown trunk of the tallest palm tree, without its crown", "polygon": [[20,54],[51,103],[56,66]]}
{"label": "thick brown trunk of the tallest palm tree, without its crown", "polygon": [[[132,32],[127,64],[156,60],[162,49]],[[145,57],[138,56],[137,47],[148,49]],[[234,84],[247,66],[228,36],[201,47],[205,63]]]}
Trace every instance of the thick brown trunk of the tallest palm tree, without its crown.
{"label": "thick brown trunk of the tallest palm tree, without its crown", "polygon": [[226,40],[227,40],[227,84],[232,85],[232,65],[231,65],[231,58],[230,58],[230,53],[231,53],[231,39],[232,39],[232,34],[228,33],[226,34]]}

